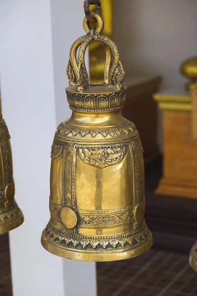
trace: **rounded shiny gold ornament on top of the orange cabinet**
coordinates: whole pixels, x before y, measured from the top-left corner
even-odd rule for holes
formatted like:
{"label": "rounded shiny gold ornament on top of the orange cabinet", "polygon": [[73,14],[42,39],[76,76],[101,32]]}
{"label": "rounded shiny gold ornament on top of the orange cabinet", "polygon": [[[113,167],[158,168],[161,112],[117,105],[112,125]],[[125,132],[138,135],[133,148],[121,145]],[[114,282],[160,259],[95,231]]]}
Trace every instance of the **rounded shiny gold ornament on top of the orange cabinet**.
{"label": "rounded shiny gold ornament on top of the orange cabinet", "polygon": [[181,65],[181,73],[190,78],[191,82],[186,84],[187,89],[193,88],[197,82],[197,57],[190,58]]}

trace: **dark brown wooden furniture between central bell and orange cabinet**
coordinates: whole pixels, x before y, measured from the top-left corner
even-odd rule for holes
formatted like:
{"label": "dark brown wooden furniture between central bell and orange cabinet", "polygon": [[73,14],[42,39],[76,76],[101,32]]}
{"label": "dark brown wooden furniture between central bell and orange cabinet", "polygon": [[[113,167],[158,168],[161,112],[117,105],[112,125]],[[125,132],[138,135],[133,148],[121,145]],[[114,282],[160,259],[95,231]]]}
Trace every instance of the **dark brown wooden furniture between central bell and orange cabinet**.
{"label": "dark brown wooden furniture between central bell and orange cabinet", "polygon": [[153,94],[158,91],[162,78],[126,76],[124,84],[128,87],[122,114],[131,120],[139,131],[144,148],[144,161],[148,162],[159,154],[156,142],[157,103]]}

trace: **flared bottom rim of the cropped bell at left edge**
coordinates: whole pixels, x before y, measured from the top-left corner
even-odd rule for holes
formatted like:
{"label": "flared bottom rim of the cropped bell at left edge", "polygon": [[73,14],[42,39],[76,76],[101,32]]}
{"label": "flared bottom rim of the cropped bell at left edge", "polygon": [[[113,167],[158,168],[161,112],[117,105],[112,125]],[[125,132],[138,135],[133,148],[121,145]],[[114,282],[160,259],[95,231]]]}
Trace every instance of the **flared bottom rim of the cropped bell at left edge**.
{"label": "flared bottom rim of the cropped bell at left edge", "polygon": [[[7,219],[5,222],[0,223],[0,234],[9,232],[17,227],[19,227],[24,222],[24,216],[18,205],[16,204],[18,211],[16,215],[11,215],[10,219]],[[9,210],[9,208],[8,208]]]}

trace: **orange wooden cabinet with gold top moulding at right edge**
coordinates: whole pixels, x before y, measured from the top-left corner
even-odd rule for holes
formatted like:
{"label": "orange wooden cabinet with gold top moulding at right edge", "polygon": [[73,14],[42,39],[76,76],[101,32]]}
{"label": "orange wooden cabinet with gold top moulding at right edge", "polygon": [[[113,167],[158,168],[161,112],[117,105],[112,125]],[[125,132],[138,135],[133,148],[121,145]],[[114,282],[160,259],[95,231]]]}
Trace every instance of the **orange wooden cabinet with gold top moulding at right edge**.
{"label": "orange wooden cabinet with gold top moulding at right edge", "polygon": [[[158,194],[197,198],[196,91],[168,91],[154,96],[163,110],[163,178]],[[195,111],[196,110],[196,111]]]}

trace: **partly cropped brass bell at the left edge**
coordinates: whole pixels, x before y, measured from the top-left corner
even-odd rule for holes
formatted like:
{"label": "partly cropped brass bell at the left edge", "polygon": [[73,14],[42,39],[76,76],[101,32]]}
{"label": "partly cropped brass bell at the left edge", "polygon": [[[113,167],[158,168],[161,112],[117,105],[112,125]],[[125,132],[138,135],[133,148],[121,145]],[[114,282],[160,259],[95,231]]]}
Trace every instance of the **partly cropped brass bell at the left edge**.
{"label": "partly cropped brass bell at the left edge", "polygon": [[14,199],[10,135],[0,114],[0,234],[20,226],[23,214]]}

